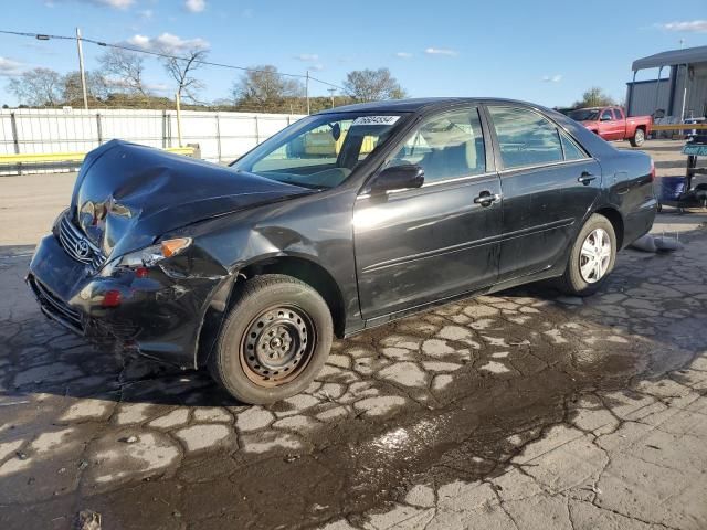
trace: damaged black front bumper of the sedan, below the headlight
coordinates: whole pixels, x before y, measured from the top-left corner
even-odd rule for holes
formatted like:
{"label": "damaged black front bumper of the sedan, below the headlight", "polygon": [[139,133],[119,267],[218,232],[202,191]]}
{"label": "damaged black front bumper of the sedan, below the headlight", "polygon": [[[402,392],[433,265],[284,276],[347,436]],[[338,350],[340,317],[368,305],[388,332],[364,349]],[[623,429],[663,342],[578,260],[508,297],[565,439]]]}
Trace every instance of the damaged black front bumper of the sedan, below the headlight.
{"label": "damaged black front bumper of the sedan, below the headlight", "polygon": [[87,339],[117,340],[184,368],[196,365],[204,315],[223,282],[224,276],[171,277],[159,266],[104,277],[72,258],[54,235],[40,242],[27,276],[50,319]]}

